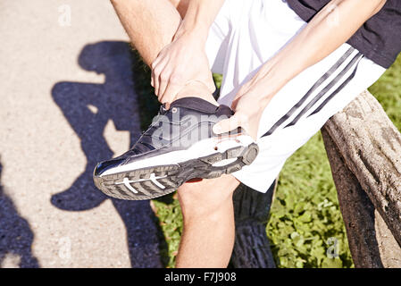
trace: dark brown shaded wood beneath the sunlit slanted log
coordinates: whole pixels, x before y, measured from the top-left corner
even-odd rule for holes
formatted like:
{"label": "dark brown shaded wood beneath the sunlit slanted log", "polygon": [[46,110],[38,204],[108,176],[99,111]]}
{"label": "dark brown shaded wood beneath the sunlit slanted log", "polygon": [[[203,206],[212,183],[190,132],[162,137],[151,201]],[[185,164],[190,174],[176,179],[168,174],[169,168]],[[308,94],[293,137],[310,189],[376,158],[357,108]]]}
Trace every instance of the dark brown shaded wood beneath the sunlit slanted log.
{"label": "dark brown shaded wood beneath the sunlit slanted log", "polygon": [[[399,267],[399,248],[382,222],[371,200],[355,175],[348,169],[333,140],[322,129],[324,146],[330,161],[331,172],[338,191],[338,203],[347,230],[351,255],[357,268]],[[392,239],[388,240],[388,234]],[[389,243],[388,243],[389,241]],[[385,251],[385,255],[380,253]]]}

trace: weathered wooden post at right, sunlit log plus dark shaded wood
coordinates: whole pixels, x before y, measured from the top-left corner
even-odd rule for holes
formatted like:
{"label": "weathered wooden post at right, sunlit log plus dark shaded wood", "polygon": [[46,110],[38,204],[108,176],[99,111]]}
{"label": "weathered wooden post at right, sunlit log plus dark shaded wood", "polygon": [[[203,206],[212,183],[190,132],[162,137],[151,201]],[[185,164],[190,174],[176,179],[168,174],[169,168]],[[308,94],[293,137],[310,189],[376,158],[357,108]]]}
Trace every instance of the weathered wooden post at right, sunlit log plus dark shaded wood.
{"label": "weathered wooden post at right, sunlit log plus dark shaded wood", "polygon": [[365,91],[322,128],[356,267],[401,267],[401,134]]}

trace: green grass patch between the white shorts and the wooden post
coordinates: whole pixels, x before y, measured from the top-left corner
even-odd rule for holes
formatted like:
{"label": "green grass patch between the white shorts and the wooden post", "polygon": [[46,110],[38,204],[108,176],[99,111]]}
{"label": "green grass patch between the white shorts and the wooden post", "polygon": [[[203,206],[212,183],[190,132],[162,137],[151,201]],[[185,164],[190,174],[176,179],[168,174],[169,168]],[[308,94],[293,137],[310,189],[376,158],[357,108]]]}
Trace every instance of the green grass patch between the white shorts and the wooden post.
{"label": "green grass patch between the white shorts and the wooden post", "polygon": [[[266,231],[280,267],[353,264],[320,132],[288,158],[280,172]],[[326,255],[330,238],[337,241],[337,259]]]}

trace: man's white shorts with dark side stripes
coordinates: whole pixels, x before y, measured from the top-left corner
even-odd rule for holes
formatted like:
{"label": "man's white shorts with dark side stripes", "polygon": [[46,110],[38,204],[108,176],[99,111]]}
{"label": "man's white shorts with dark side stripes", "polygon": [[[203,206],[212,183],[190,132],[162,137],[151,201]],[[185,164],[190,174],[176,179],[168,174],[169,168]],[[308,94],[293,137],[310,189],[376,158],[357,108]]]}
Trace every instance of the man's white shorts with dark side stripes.
{"label": "man's white shorts with dark side stripes", "polygon": [[[223,75],[219,103],[230,106],[241,85],[305,25],[283,0],[225,0],[206,42],[212,71]],[[300,73],[265,108],[254,163],[233,175],[265,192],[287,158],[384,71],[344,44]]]}

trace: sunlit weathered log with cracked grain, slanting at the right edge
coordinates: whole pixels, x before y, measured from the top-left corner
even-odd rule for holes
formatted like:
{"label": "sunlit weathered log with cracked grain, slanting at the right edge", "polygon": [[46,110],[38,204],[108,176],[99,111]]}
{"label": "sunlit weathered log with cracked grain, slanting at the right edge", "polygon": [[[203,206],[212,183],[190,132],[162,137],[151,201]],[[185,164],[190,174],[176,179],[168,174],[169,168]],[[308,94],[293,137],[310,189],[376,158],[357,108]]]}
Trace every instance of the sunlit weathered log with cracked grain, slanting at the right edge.
{"label": "sunlit weathered log with cracked grain, slanting at the right edge", "polygon": [[365,91],[322,130],[401,244],[401,134],[379,102]]}

